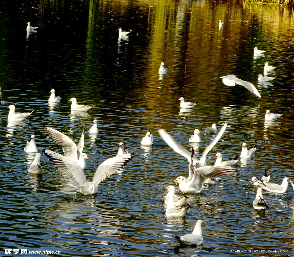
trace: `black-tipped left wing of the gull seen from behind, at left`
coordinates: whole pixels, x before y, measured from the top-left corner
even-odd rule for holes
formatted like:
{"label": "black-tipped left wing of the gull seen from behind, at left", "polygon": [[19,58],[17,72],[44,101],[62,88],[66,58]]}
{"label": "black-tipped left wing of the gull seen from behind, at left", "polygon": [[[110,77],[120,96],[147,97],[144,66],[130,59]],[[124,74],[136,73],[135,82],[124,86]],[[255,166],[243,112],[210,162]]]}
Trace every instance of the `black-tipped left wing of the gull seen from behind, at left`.
{"label": "black-tipped left wing of the gull seen from behind, at left", "polygon": [[45,154],[50,158],[55,168],[66,174],[74,182],[78,190],[81,191],[81,185],[88,182],[81,166],[73,159],[48,149],[45,150]]}

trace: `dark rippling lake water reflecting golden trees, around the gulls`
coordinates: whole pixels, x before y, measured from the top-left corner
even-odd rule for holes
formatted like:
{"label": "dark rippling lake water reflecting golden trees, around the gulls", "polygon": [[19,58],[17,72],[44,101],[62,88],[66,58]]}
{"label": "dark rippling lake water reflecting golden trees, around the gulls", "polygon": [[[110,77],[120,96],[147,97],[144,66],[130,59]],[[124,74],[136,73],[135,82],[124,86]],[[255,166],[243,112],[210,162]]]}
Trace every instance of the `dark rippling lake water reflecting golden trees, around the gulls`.
{"label": "dark rippling lake water reflecting golden trees, around the gulls", "polygon": [[[219,28],[219,20],[224,21]],[[243,22],[243,21],[249,21]],[[61,251],[51,256],[240,256],[229,250],[283,250],[246,256],[289,256],[293,189],[263,192],[266,211],[252,207],[254,175],[273,172],[270,181],[293,176],[294,16],[273,5],[213,1],[25,1],[0,3],[0,177],[1,256],[5,249]],[[26,23],[37,26],[26,32]],[[118,38],[117,29],[132,30]],[[253,48],[267,52],[253,56]],[[168,67],[158,74],[161,61]],[[263,63],[277,66],[270,84],[258,84]],[[235,74],[252,82],[261,99],[242,86],[228,87],[220,76]],[[48,104],[49,91],[61,95]],[[98,104],[88,113],[70,110],[68,99]],[[180,111],[180,97],[199,101]],[[8,123],[6,106],[35,109],[24,123]],[[283,112],[265,123],[267,109]],[[39,152],[62,153],[44,126],[77,142],[98,119],[100,133],[85,135],[86,176],[115,156],[124,142],[132,161],[113,174],[95,195],[83,196],[42,154],[42,176],[29,174],[33,156],[24,152],[31,134]],[[158,135],[164,128],[191,151],[195,128],[203,143],[214,138],[204,129],[227,122],[223,137],[207,156],[228,160],[241,144],[258,145],[253,160],[235,164],[236,172],[190,196],[185,218],[167,218],[164,187],[188,176],[187,160]],[[155,143],[140,146],[150,129]],[[183,248],[173,236],[191,233],[202,219],[204,244]],[[27,256],[29,253],[27,254]],[[12,254],[12,256],[22,256]],[[44,256],[31,254],[31,256]]]}

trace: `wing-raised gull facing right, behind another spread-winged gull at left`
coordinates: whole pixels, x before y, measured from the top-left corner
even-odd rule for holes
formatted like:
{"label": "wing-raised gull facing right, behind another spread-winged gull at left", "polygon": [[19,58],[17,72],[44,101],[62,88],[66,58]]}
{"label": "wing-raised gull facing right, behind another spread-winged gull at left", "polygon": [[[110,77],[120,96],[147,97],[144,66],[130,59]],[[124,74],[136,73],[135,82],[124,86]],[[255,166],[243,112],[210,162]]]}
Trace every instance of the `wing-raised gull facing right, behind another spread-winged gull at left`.
{"label": "wing-raised gull facing right, behind another spread-winged gull at left", "polygon": [[49,136],[51,136],[51,138],[62,147],[64,156],[76,161],[82,169],[86,168],[85,159],[89,159],[86,153],[83,153],[85,125],[80,140],[78,141],[78,145],[76,145],[74,141],[58,130],[45,127],[45,130]]}

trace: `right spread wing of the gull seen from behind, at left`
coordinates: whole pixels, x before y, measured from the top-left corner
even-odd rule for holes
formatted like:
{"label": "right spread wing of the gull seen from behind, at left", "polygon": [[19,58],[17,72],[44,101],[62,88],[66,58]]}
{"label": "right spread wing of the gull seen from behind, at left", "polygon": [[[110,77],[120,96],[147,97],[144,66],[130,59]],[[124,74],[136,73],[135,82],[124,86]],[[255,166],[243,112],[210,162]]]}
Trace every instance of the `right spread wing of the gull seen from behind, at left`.
{"label": "right spread wing of the gull seen from behind, at left", "polygon": [[123,168],[125,162],[129,159],[131,159],[131,154],[125,153],[103,161],[103,163],[101,163],[97,168],[93,177],[92,194],[98,191],[98,185],[102,180],[104,180],[106,177],[109,177],[111,174],[120,171]]}

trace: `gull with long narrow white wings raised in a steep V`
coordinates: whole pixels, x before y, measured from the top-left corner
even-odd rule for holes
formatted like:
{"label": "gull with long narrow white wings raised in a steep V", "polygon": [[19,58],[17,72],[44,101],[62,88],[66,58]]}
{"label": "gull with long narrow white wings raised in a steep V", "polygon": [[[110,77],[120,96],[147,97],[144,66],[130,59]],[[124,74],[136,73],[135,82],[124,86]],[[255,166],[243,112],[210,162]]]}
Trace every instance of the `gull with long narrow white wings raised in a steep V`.
{"label": "gull with long narrow white wings raised in a steep V", "polygon": [[[208,152],[213,148],[213,146],[215,146],[215,144],[221,138],[221,136],[225,132],[225,129],[226,129],[227,126],[228,126],[228,124],[225,122],[225,124],[223,125],[223,127],[220,129],[220,132],[215,136],[215,138],[213,139],[213,141],[211,141],[211,143],[209,144],[209,146],[207,146],[205,148],[205,150],[204,150],[201,158],[199,159],[199,161],[197,160],[196,157],[193,157],[193,165],[194,166],[196,166],[197,168],[206,166],[206,156],[207,156]],[[171,135],[169,135],[168,133],[166,133],[166,131],[164,129],[159,129],[158,130],[158,133],[162,137],[162,139],[171,148],[173,148],[173,150],[176,153],[179,153],[182,156],[186,157],[187,160],[188,160],[188,162],[190,163],[190,161],[191,161],[191,153],[189,153],[189,151],[186,148],[184,148],[180,144],[176,143],[176,141],[173,139],[173,137]]]}

